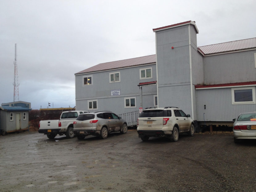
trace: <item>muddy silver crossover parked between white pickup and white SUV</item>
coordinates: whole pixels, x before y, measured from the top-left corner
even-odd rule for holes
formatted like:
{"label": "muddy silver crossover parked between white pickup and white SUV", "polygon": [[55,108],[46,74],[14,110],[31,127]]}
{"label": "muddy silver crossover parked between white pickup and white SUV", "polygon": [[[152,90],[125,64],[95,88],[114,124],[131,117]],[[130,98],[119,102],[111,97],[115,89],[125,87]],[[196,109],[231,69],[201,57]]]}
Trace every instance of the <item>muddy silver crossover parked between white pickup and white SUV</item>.
{"label": "muddy silver crossover parked between white pickup and white SUV", "polygon": [[110,111],[83,113],[73,122],[73,132],[78,139],[87,135],[108,137],[108,133],[127,132],[127,123],[124,119]]}

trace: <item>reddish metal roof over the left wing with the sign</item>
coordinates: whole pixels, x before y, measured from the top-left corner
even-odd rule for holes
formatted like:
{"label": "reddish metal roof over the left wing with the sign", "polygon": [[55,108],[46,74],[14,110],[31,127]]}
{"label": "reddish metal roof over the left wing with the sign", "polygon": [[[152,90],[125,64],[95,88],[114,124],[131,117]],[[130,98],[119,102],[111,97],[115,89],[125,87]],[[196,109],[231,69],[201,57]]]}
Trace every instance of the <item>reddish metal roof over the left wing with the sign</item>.
{"label": "reddish metal roof over the left wing with the sign", "polygon": [[81,74],[81,73],[105,71],[105,70],[118,69],[118,68],[124,68],[124,67],[132,67],[137,65],[153,64],[153,63],[156,63],[155,55],[148,55],[144,57],[124,59],[120,61],[112,61],[108,63],[100,63],[98,65],[95,65],[93,67],[80,71],[75,75]]}

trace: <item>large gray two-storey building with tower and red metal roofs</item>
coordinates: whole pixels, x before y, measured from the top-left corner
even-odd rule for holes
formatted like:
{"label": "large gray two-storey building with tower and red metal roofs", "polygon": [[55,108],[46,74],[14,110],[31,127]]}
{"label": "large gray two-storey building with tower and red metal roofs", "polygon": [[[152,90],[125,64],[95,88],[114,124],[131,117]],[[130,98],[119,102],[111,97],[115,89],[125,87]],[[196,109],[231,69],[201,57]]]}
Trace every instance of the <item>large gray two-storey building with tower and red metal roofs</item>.
{"label": "large gray two-storey building with tower and red metal roofs", "polygon": [[193,21],[153,32],[156,55],[75,74],[77,110],[137,118],[141,105],[177,106],[199,123],[216,125],[232,125],[239,113],[256,111],[256,38],[197,47]]}

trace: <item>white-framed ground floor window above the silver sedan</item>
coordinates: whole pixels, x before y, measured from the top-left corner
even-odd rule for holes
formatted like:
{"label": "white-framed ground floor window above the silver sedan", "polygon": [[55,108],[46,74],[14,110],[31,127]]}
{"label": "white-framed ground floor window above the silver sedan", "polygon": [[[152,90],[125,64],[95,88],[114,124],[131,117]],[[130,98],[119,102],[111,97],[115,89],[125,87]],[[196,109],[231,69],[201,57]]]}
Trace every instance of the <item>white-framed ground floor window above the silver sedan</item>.
{"label": "white-framed ground floor window above the silver sedan", "polygon": [[255,104],[255,88],[232,88],[232,104]]}

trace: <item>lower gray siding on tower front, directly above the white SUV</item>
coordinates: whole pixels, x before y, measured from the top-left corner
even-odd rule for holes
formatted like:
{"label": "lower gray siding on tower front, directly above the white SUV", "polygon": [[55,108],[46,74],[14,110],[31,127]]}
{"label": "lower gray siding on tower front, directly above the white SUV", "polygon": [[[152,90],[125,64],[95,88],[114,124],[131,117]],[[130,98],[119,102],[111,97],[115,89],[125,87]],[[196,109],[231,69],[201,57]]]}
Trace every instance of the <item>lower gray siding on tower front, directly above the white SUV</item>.
{"label": "lower gray siding on tower front, directly above the white SUV", "polygon": [[159,87],[159,107],[179,107],[192,114],[190,85]]}

